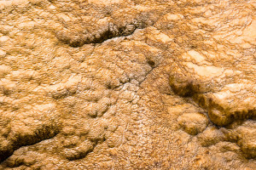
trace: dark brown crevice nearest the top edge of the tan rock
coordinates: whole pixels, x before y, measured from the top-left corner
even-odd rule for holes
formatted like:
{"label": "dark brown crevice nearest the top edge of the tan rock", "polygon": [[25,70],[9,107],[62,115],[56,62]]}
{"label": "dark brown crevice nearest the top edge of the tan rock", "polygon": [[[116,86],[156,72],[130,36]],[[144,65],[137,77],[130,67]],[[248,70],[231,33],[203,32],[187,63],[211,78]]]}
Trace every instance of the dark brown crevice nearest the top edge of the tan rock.
{"label": "dark brown crevice nearest the top edge of the tan rock", "polygon": [[[114,37],[130,36],[137,29],[153,26],[158,20],[159,14],[142,13],[131,21],[113,20],[96,31],[87,34],[73,31],[57,31],[56,37],[59,41],[68,44],[73,48],[81,47],[89,43],[102,43]],[[121,23],[121,24],[119,24]]]}

